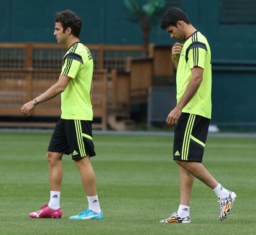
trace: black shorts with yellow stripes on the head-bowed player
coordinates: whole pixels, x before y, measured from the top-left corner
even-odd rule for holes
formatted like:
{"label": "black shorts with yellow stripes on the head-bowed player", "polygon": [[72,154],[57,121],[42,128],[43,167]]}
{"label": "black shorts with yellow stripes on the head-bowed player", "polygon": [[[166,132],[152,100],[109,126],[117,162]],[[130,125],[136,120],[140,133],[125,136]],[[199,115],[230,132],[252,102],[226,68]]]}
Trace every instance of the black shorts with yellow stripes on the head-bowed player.
{"label": "black shorts with yellow stripes on the head-bowed player", "polygon": [[202,162],[210,119],[181,113],[174,127],[173,160]]}

